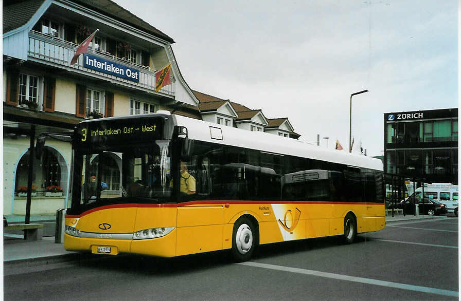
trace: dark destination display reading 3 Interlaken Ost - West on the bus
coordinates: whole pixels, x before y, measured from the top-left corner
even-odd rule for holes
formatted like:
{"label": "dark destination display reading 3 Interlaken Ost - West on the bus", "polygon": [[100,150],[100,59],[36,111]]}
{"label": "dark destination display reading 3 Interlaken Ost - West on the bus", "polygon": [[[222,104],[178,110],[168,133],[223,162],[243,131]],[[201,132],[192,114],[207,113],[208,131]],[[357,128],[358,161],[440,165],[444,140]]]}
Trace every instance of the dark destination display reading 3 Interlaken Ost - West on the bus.
{"label": "dark destination display reading 3 Interlaken Ost - West on the bus", "polygon": [[97,121],[82,124],[79,130],[82,143],[125,144],[160,139],[163,133],[160,118],[136,118]]}

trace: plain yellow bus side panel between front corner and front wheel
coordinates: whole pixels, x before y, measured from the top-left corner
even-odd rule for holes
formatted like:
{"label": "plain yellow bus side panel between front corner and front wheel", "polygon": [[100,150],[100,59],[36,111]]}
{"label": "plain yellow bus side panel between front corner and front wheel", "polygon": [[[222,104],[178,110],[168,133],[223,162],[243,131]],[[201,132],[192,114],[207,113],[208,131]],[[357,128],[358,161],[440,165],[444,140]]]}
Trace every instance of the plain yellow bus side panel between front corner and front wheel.
{"label": "plain yellow bus side panel between front corner and front wheel", "polygon": [[178,208],[176,255],[223,248],[223,206]]}

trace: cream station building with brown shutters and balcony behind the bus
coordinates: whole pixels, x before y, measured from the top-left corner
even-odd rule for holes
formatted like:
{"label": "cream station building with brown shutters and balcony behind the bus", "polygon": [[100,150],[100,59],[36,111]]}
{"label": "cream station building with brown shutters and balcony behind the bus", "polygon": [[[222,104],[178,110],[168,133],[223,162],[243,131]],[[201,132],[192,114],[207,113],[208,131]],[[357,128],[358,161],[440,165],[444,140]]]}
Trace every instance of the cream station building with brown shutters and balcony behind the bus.
{"label": "cream station building with brown shutters and balcony behind the bus", "polygon": [[[96,32],[71,65],[77,46]],[[88,118],[169,110],[191,118],[298,138],[291,124],[272,123],[261,110],[193,91],[171,49],[173,39],[110,0],[10,0],[3,3],[4,215],[53,219],[67,208],[72,148],[41,133],[72,130]],[[171,64],[171,84],[155,90],[155,72]],[[289,125],[289,126],[288,126]],[[280,127],[277,131],[277,128]],[[279,134],[280,135],[280,134]],[[117,187],[117,158],[104,182]]]}

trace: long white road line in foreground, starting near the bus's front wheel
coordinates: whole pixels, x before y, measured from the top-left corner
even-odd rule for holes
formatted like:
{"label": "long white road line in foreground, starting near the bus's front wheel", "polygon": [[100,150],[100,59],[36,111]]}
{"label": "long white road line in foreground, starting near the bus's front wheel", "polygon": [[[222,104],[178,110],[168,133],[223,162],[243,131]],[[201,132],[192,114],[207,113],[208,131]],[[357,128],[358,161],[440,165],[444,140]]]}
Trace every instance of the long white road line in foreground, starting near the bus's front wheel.
{"label": "long white road line in foreground, starting near the bus's front wheel", "polygon": [[371,284],[371,285],[403,289],[403,290],[409,290],[409,291],[416,291],[416,292],[423,292],[423,293],[429,293],[429,294],[458,297],[457,291],[415,286],[415,285],[402,284],[402,283],[396,283],[396,282],[391,282],[391,281],[383,281],[383,280],[377,280],[377,279],[354,277],[354,276],[348,276],[348,275],[333,274],[333,273],[299,269],[299,268],[290,268],[290,267],[283,267],[283,266],[276,266],[276,265],[269,265],[269,264],[261,264],[260,262],[252,262],[252,261],[241,262],[239,265],[270,269],[270,270],[277,270],[277,271],[285,271],[285,272],[298,273],[298,274],[305,274],[305,275],[312,275],[312,276],[319,276],[319,277],[332,278],[332,279],[338,279],[338,280],[346,280],[346,281],[352,281],[352,282],[357,282],[357,283]]}

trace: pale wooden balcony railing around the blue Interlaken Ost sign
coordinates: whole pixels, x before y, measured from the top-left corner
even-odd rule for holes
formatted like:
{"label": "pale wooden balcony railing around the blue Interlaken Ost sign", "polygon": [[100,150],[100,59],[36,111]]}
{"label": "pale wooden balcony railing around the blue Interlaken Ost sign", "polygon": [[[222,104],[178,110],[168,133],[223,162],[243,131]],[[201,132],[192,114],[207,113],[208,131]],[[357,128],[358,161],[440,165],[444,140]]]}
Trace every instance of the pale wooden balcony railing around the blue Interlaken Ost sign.
{"label": "pale wooden balcony railing around the blue Interlaken Ost sign", "polygon": [[[37,31],[31,30],[29,32],[29,50],[28,56],[31,58],[39,59],[42,61],[47,61],[51,63],[55,63],[58,65],[63,65],[66,67],[78,69],[84,72],[87,72],[88,75],[97,74],[98,76],[102,76],[105,78],[110,78],[113,80],[117,80],[119,82],[126,83],[128,85],[134,85],[141,88],[149,89],[155,91],[155,72],[151,71],[148,66],[142,66],[139,64],[134,64],[130,61],[120,59],[115,57],[110,53],[105,53],[101,51],[95,50],[88,50],[89,54],[95,55],[96,57],[100,57],[104,60],[113,61],[115,63],[125,65],[130,68],[134,68],[139,70],[139,82],[133,82],[130,80],[122,79],[111,74],[106,74],[103,72],[95,71],[92,69],[88,69],[83,67],[83,55],[80,55],[78,62],[74,65],[70,66],[70,60],[75,54],[75,49],[78,45],[64,41],[58,37],[50,36],[47,34],[42,34]],[[160,93],[174,96],[175,91],[175,83],[172,80],[171,85],[167,85],[159,90]]]}

